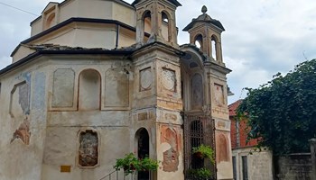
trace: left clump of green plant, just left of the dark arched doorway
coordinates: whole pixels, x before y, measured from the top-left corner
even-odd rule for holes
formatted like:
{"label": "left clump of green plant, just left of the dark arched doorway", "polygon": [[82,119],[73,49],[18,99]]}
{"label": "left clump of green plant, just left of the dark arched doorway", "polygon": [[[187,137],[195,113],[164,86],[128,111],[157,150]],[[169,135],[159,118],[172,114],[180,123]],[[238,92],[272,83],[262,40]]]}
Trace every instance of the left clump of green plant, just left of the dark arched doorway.
{"label": "left clump of green plant, just left of the dark arched doorway", "polygon": [[116,165],[113,167],[116,171],[123,168],[125,175],[129,175],[134,173],[137,169],[140,169],[140,161],[133,153],[129,153],[123,158],[116,159]]}

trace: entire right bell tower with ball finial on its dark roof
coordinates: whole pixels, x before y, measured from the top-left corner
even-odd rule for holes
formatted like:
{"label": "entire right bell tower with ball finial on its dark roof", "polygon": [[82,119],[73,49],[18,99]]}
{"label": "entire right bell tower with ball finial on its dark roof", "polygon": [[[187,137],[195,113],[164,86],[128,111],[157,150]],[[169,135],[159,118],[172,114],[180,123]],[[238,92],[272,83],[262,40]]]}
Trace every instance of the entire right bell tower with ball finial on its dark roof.
{"label": "entire right bell tower with ball finial on its dark roof", "polygon": [[[183,31],[188,31],[190,33],[190,45],[189,47],[194,47],[193,51],[197,51],[197,56],[200,56],[200,62],[202,63],[201,67],[198,69],[200,73],[200,84],[204,83],[204,85],[199,85],[201,90],[200,92],[200,103],[196,103],[196,99],[199,98],[191,98],[191,104],[200,104],[200,106],[193,106],[197,112],[193,114],[192,105],[190,109],[190,104],[187,105],[187,119],[184,119],[184,127],[188,127],[185,129],[185,132],[190,131],[191,124],[189,122],[197,119],[198,115],[206,117],[205,121],[200,121],[200,124],[203,124],[203,127],[208,127],[208,124],[211,124],[212,130],[208,130],[212,135],[213,141],[211,144],[212,148],[215,149],[216,154],[216,162],[215,162],[215,171],[218,180],[225,179],[230,180],[233,179],[233,167],[232,167],[232,152],[231,152],[231,144],[230,144],[230,121],[229,121],[229,113],[228,113],[228,85],[227,85],[227,75],[231,71],[223,62],[222,49],[221,49],[221,32],[225,31],[223,25],[218,21],[209,16],[207,14],[207,7],[203,6],[201,9],[200,16],[198,18],[194,18],[191,23],[189,23]],[[193,45],[195,44],[195,46]],[[187,51],[190,54],[190,50]],[[181,46],[181,50],[186,50],[185,47]],[[193,53],[191,53],[193,54]],[[192,56],[193,57],[193,56]],[[187,58],[187,59],[186,59]],[[187,72],[187,69],[192,69],[191,72],[194,72],[194,68],[197,66],[190,66],[189,64],[194,58],[190,58],[190,56],[182,58],[184,65],[185,62],[189,66],[184,68]],[[185,66],[184,66],[185,67]],[[191,68],[192,67],[192,68]],[[193,68],[194,67],[194,68]],[[187,74],[187,73],[186,73]],[[183,73],[185,76],[185,73]],[[193,78],[191,78],[193,79]],[[191,92],[198,92],[198,85],[195,87],[195,82],[198,81],[193,79],[191,85],[186,85],[187,89],[192,89]],[[188,83],[187,83],[188,84]],[[190,91],[189,91],[190,92]],[[204,96],[203,96],[204,95]],[[199,97],[198,95],[196,95]],[[185,101],[185,100],[184,100]],[[190,103],[190,101],[187,101]],[[186,103],[185,103],[186,104]],[[194,122],[194,121],[193,121]],[[194,123],[193,123],[194,125]],[[201,126],[202,127],[202,126]],[[202,130],[197,129],[197,130]],[[192,134],[194,131],[192,131]],[[202,134],[200,141],[203,143],[208,143],[206,140],[205,133]],[[189,133],[190,135],[190,133]],[[194,136],[193,136],[194,138]],[[191,148],[190,139],[185,139],[186,147]],[[190,159],[190,154],[185,155],[185,159]],[[190,168],[190,160],[186,163],[186,168]]]}

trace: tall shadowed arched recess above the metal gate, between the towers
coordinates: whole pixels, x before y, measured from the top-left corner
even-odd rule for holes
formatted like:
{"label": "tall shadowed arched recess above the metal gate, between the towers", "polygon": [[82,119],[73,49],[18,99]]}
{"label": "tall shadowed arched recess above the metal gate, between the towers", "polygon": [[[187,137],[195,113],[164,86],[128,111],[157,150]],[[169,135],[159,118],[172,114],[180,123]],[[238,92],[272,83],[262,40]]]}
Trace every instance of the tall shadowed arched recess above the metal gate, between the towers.
{"label": "tall shadowed arched recess above the metal gate, between the towers", "polygon": [[199,53],[189,48],[182,49],[186,55],[181,58],[181,97],[184,111],[201,110],[204,103],[204,66]]}

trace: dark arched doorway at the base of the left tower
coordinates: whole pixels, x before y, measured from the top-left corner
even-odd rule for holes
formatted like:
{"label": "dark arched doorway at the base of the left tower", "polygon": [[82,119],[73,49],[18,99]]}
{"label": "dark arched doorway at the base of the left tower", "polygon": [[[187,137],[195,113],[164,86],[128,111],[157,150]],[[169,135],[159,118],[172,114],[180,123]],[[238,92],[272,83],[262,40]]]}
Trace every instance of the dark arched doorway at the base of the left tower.
{"label": "dark arched doorway at the base of the left tower", "polygon": [[[149,134],[144,128],[141,128],[135,133],[135,140],[137,145],[137,157],[149,157]],[[148,171],[140,171],[137,175],[138,180],[149,180],[150,173]]]}

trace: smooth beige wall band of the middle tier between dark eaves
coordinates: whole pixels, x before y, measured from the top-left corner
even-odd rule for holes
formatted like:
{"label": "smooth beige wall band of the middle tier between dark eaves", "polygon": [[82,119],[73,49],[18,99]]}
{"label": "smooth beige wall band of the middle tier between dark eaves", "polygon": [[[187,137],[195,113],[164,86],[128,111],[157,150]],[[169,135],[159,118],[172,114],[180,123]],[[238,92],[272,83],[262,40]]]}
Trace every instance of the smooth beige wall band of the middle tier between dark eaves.
{"label": "smooth beige wall band of the middle tier between dark eaves", "polygon": [[[26,57],[34,52],[30,47],[42,44],[54,44],[68,47],[82,47],[87,49],[115,49],[116,48],[116,25],[100,23],[70,23],[33,40],[25,46],[20,46],[14,53],[13,62]],[[117,48],[128,47],[135,44],[135,31],[119,28]]]}

